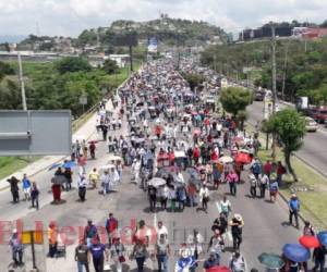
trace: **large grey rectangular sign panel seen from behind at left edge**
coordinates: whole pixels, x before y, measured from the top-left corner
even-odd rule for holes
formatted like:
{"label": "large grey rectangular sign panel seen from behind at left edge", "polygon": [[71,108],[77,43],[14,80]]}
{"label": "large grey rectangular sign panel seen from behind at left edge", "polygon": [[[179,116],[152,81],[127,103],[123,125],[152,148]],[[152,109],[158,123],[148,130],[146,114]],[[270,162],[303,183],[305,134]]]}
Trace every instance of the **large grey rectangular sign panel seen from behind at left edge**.
{"label": "large grey rectangular sign panel seen from behind at left edge", "polygon": [[0,111],[0,156],[70,154],[71,111]]}

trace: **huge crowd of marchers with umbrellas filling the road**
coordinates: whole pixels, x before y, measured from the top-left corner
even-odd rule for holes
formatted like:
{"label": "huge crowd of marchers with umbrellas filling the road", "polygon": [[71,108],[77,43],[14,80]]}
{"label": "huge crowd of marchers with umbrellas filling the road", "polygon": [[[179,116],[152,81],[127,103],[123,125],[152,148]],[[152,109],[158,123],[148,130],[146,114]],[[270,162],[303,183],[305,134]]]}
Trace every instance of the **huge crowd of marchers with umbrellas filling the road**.
{"label": "huge crowd of marchers with umbrellas filling the road", "polygon": [[[219,214],[211,222],[208,248],[204,248],[202,234],[194,230],[191,238],[180,245],[174,269],[182,272],[195,271],[201,265],[206,270],[221,267],[230,233],[232,254],[229,263],[225,263],[226,271],[250,271],[241,254],[246,222],[237,212],[237,207],[232,207],[231,199],[238,196],[238,187],[245,183],[249,184],[251,197],[265,199],[269,195],[269,200],[275,202],[286,173],[281,162],[259,161],[258,134],[239,131],[231,116],[219,113],[216,104],[207,103],[201,94],[191,90],[168,60],[147,63],[132,75],[119,89],[119,102],[114,102],[114,107],[118,112],[116,116],[105,111],[105,104],[100,104],[96,124],[108,146],[108,164],[86,173],[86,159],[88,156],[96,158],[96,143],[76,140],[72,160],[60,165],[52,178],[53,201],[60,203],[61,190],[71,189],[72,168],[75,165],[78,166],[81,201],[86,200],[88,186],[99,188],[104,196],[108,195],[122,182],[123,168],[126,168],[132,171],[131,183],[146,191],[149,212],[195,209],[208,213],[213,191],[219,191],[226,184],[231,198],[223,196],[219,199]],[[123,122],[128,122],[128,135],[121,132]],[[118,134],[108,136],[109,129]],[[19,181],[12,177],[9,182],[13,201],[16,202],[20,200],[16,189]],[[33,193],[35,188],[35,183],[24,176],[24,196],[38,207],[38,194]],[[295,195],[289,201],[289,223],[292,224],[294,218],[295,227],[299,227],[300,200]],[[89,271],[90,257],[96,272],[104,271],[109,257],[119,272],[128,258],[135,260],[138,272],[144,271],[147,258],[157,261],[159,271],[169,271],[168,259],[175,256],[162,222],[156,226],[156,242],[150,247],[150,235],[144,235],[148,226],[141,220],[132,235],[133,248],[130,252],[117,235],[118,222],[110,213],[105,224],[108,235],[106,246],[97,227],[92,220],[88,221],[85,235],[75,249],[78,272],[83,268]],[[307,230],[308,225],[303,235],[315,236]],[[49,227],[52,230],[56,226]],[[49,236],[49,257],[57,254],[58,242],[53,239],[53,233],[56,235],[56,230]],[[320,251],[315,249],[315,260],[319,260],[315,268],[324,267],[320,259],[325,255],[322,250],[326,252],[325,247]],[[201,256],[205,259],[201,260]],[[282,271],[295,272],[301,268],[307,271],[305,262],[293,261],[287,256],[283,256],[283,268],[279,268]]]}

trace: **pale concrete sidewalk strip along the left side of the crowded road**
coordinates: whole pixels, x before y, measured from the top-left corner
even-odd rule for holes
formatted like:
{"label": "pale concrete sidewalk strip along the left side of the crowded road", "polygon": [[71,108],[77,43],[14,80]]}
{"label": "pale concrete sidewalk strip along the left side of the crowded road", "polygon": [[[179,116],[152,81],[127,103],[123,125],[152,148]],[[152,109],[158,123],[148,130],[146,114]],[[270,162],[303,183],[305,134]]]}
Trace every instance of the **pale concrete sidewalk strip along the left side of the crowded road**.
{"label": "pale concrete sidewalk strip along the left side of the crowded road", "polygon": [[[119,107],[116,109],[118,111]],[[107,102],[106,110],[112,111],[112,102],[111,100]],[[88,140],[92,135],[96,131],[96,120],[97,120],[97,113],[95,112],[92,118],[82,125],[72,136],[72,140],[74,140],[76,137],[85,137],[85,140]],[[23,174],[27,174],[27,176],[32,177],[38,173],[40,173],[44,170],[49,169],[53,163],[59,163],[60,161],[63,161],[64,159],[70,158],[68,156],[46,156],[41,159],[28,164],[26,168],[23,168],[11,175],[4,177],[0,181],[0,191],[9,188],[9,183],[7,182],[8,178],[11,176],[15,176],[19,180],[23,177]]]}

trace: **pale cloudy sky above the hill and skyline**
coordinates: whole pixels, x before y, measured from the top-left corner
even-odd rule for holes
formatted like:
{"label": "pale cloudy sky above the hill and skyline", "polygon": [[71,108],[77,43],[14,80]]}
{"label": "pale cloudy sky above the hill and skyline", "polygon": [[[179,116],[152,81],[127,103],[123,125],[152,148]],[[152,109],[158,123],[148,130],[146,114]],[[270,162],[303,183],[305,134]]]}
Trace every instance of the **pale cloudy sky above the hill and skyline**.
{"label": "pale cloudy sky above the hill and skyline", "polygon": [[327,0],[0,0],[0,35],[76,36],[114,20],[203,20],[228,32],[269,21],[327,18]]}

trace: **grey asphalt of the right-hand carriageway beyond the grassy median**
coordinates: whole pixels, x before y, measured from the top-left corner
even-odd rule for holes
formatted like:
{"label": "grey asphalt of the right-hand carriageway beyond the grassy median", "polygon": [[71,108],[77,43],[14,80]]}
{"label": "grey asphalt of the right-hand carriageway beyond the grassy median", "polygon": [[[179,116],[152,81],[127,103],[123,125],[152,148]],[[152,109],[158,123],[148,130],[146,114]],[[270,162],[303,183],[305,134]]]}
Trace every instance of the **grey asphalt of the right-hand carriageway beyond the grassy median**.
{"label": "grey asphalt of the right-hand carriageway beyond the grassy median", "polygon": [[[247,107],[249,122],[253,125],[263,120],[263,102],[254,102]],[[283,108],[286,106],[282,106]],[[327,176],[327,131],[323,126],[315,133],[307,133],[304,145],[296,156]]]}

